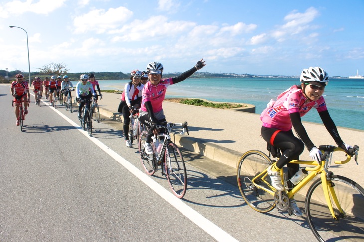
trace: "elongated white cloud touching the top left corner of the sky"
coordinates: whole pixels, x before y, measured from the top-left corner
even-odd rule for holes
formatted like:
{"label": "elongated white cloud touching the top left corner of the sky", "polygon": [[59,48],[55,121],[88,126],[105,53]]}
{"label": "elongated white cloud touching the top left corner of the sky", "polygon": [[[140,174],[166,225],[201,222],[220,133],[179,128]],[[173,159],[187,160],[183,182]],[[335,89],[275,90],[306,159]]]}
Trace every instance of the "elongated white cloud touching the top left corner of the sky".
{"label": "elongated white cloud touching the top left corner of the sky", "polygon": [[38,2],[34,2],[34,0],[26,0],[25,2],[22,2],[20,0],[13,0],[7,2],[0,8],[0,16],[7,18],[9,15],[21,15],[25,12],[48,15],[48,13],[63,6],[66,1],[67,0],[39,0]]}

